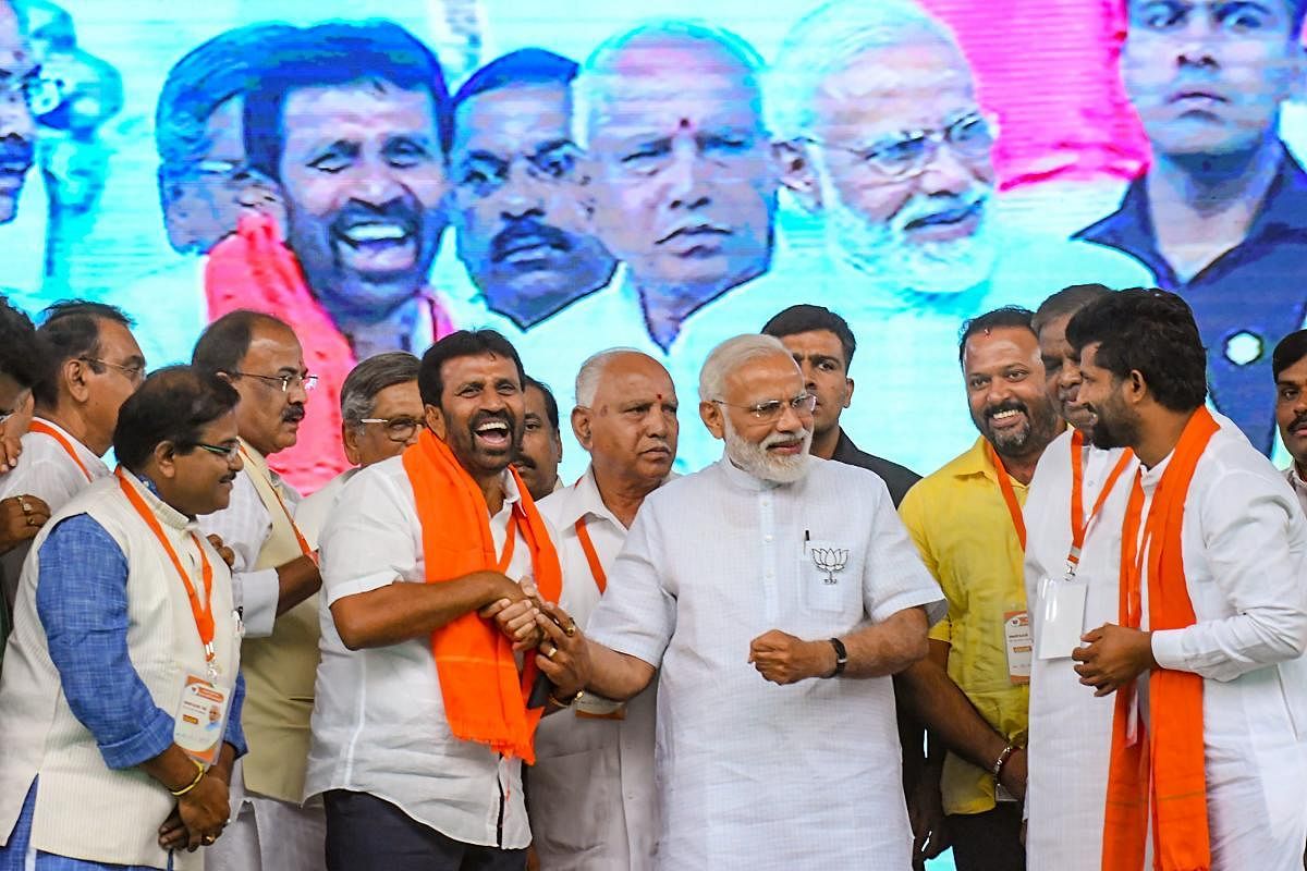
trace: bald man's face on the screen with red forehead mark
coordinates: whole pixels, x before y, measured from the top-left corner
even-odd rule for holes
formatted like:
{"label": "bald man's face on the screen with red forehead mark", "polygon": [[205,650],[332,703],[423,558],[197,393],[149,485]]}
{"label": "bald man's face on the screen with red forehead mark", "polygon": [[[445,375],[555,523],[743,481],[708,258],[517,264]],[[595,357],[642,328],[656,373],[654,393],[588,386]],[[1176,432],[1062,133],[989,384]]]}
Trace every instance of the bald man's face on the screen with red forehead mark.
{"label": "bald man's face on the screen with red forehead mark", "polygon": [[652,35],[588,86],[596,226],[635,283],[711,299],[766,270],[776,174],[754,73],[716,42]]}

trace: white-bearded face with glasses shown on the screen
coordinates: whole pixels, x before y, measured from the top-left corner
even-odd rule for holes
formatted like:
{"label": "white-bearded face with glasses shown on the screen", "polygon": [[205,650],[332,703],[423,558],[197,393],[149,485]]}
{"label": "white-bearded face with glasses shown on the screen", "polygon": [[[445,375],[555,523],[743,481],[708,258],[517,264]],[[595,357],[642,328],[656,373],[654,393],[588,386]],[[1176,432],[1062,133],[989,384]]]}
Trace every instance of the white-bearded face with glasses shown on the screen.
{"label": "white-bearded face with glasses shown on the screen", "polygon": [[833,247],[880,278],[959,293],[988,277],[993,127],[945,39],[872,48],[813,94],[806,142]]}

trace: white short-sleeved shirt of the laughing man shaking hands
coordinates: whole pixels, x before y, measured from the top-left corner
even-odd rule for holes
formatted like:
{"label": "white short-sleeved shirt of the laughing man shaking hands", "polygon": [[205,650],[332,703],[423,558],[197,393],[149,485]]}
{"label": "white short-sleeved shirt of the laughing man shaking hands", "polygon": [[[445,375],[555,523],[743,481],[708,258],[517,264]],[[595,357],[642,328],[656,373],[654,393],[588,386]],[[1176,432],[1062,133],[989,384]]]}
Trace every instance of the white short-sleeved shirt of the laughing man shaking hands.
{"label": "white short-sleeved shirt of the laughing man shaking hands", "polygon": [[[506,474],[503,508],[490,518],[497,551],[518,500]],[[345,484],[323,530],[322,569],[323,658],[306,798],[332,789],[369,793],[455,841],[525,847],[521,761],[451,734],[430,639],[350,650],[332,620],[331,605],[341,598],[426,580],[422,522],[403,457],[362,469]],[[508,576],[529,573],[531,548],[519,530]]]}

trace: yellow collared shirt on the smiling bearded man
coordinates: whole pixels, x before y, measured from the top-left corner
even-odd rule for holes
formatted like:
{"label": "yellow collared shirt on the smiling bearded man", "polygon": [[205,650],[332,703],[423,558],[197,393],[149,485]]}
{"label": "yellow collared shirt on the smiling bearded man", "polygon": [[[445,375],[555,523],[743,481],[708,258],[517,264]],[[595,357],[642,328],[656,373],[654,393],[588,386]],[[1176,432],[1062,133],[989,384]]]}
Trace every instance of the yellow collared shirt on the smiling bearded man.
{"label": "yellow collared shirt on the smiling bearded man", "polygon": [[[1026,486],[1016,479],[1012,486],[1023,505]],[[948,616],[931,629],[932,639],[951,645],[949,676],[991,726],[1023,744],[1030,689],[1009,676],[1004,633],[1006,615],[1026,610],[1023,554],[984,437],[919,481],[899,515],[949,599]],[[944,763],[941,789],[946,814],[995,806],[989,772],[953,753]]]}

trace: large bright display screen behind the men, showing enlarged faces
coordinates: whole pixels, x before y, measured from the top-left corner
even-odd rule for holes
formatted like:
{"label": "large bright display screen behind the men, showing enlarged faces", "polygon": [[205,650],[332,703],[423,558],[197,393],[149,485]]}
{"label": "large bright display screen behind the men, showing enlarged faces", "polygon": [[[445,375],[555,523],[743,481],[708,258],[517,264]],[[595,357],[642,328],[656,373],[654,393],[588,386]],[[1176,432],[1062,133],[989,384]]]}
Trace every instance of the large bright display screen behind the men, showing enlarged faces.
{"label": "large bright display screen behind the men, showing enlarged faces", "polygon": [[1185,294],[1214,405],[1273,449],[1307,296],[1290,0],[18,12],[0,286],[122,306],[152,367],[233,308],[290,321],[324,389],[273,465],[305,490],[344,467],[357,359],[476,326],[557,393],[566,475],[572,380],[612,346],[667,364],[698,469],[704,356],[795,303],[856,334],[850,436],[928,473],[975,437],[962,323],[1074,283]]}

